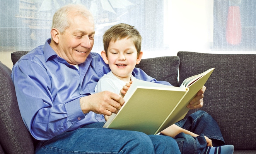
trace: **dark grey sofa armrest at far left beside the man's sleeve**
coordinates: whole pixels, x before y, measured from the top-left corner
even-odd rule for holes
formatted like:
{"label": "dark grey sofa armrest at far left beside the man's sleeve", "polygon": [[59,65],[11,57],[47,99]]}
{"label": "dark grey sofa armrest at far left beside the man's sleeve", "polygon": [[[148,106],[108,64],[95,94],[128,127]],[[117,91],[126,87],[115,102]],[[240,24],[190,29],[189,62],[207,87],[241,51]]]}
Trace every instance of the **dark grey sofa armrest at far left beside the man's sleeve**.
{"label": "dark grey sofa armrest at far left beside the man's sleeve", "polygon": [[8,154],[33,154],[33,138],[22,121],[10,75],[0,62],[0,145]]}

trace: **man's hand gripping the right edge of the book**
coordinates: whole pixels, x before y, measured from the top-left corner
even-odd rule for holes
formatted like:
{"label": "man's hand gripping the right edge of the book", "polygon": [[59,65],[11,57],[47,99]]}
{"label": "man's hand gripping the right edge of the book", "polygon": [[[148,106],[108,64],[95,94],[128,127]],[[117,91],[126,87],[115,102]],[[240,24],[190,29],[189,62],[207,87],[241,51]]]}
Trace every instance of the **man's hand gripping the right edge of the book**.
{"label": "man's hand gripping the right edge of the book", "polygon": [[189,102],[187,108],[198,109],[203,107],[203,93],[205,93],[206,87],[203,86],[202,89],[198,91],[196,96]]}

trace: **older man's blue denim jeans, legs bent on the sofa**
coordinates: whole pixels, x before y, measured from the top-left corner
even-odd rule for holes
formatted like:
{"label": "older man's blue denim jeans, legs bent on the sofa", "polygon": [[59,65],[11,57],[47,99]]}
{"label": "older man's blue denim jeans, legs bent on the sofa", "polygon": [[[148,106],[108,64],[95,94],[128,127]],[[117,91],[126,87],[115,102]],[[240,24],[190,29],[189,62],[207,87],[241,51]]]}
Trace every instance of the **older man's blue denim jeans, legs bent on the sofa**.
{"label": "older man's blue denim jeans, legs bent on the sofa", "polygon": [[[48,141],[40,141],[39,154],[154,154],[179,153],[171,137],[152,137],[142,132],[102,128],[94,123],[71,132],[65,132]],[[156,136],[156,135],[155,135]],[[166,148],[168,145],[169,147]]]}

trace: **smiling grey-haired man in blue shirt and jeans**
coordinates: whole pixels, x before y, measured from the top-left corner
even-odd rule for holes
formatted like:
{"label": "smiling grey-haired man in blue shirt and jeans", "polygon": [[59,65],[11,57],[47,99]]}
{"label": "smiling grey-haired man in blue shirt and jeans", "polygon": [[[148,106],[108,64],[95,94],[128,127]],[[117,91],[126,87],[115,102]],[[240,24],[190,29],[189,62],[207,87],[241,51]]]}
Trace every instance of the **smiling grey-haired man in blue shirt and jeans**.
{"label": "smiling grey-haired man in blue shirt and jeans", "polygon": [[[51,39],[24,55],[12,71],[22,119],[39,140],[38,153],[180,153],[168,136],[102,128],[104,116],[124,104],[118,94],[95,94],[97,81],[110,71],[90,52],[94,20],[83,5],[66,5],[53,16]],[[155,82],[142,70],[137,79]],[[136,74],[139,74],[136,75]],[[189,108],[203,105],[203,87]]]}

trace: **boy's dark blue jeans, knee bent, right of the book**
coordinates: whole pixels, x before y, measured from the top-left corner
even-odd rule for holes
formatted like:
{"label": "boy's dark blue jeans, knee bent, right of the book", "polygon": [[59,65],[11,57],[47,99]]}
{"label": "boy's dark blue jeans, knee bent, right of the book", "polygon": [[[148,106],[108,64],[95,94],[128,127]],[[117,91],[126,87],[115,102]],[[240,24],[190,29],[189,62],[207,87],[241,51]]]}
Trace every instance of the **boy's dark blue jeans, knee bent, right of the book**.
{"label": "boy's dark blue jeans, knee bent, right of the book", "polygon": [[217,122],[205,111],[197,111],[186,119],[176,123],[188,131],[198,134],[198,137],[180,133],[174,137],[182,154],[201,154],[207,147],[204,136],[212,140],[213,146],[225,145],[223,136]]}

